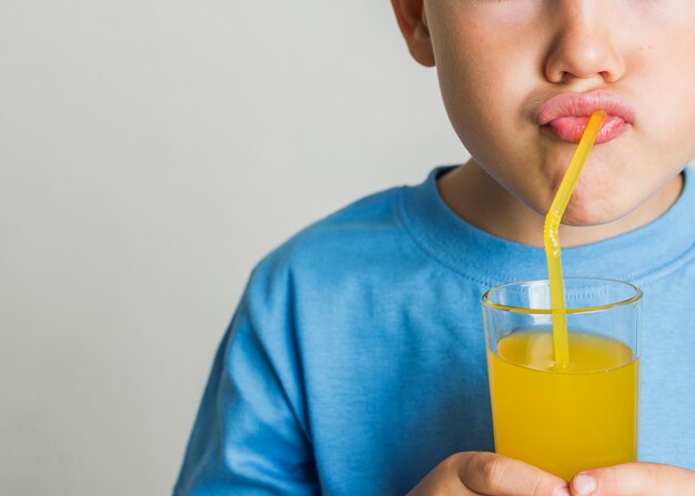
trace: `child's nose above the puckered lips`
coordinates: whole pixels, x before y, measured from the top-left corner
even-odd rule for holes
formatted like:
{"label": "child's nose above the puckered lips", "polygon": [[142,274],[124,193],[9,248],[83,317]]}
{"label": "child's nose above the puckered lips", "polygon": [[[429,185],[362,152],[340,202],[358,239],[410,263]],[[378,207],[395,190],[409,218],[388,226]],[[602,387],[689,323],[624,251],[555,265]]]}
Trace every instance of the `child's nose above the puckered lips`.
{"label": "child's nose above the puckered lips", "polygon": [[[545,77],[554,83],[600,79],[614,82],[624,72],[624,60],[615,45],[611,22],[613,2],[605,0],[554,0],[553,26],[556,27],[545,60]],[[620,28],[618,28],[620,29]]]}

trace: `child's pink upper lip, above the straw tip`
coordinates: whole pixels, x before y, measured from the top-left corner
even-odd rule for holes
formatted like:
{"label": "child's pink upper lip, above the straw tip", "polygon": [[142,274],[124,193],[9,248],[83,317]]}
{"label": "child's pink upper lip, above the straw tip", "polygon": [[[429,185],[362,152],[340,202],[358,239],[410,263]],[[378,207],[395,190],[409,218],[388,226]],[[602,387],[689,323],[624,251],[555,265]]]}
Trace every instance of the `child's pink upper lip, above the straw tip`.
{"label": "child's pink upper lip, above the straw tip", "polygon": [[558,118],[591,115],[596,110],[603,110],[608,115],[621,118],[627,123],[635,120],[635,111],[629,103],[611,91],[596,90],[552,97],[538,108],[536,122],[538,125],[546,125]]}

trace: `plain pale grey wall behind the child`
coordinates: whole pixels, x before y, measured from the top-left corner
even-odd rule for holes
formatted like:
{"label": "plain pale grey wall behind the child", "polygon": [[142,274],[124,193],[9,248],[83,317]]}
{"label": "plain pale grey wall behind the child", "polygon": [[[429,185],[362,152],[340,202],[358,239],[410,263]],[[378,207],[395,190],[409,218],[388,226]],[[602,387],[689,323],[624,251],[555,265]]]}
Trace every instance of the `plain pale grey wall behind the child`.
{"label": "plain pale grey wall behind the child", "polygon": [[385,0],[0,0],[0,494],[169,494],[260,257],[465,158]]}

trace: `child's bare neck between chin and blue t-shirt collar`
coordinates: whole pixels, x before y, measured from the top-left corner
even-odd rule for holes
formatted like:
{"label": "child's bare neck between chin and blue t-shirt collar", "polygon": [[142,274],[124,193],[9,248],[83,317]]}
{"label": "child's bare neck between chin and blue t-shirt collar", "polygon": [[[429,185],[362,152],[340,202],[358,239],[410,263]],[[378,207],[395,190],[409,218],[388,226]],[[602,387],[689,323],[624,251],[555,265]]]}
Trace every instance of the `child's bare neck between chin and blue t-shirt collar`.
{"label": "child's bare neck between chin and blue t-shirt collar", "polygon": [[[494,236],[530,246],[543,246],[544,215],[511,194],[471,160],[437,182],[444,202],[461,219]],[[561,225],[565,247],[606,240],[646,225],[666,212],[683,188],[678,175],[627,215],[592,226]]]}

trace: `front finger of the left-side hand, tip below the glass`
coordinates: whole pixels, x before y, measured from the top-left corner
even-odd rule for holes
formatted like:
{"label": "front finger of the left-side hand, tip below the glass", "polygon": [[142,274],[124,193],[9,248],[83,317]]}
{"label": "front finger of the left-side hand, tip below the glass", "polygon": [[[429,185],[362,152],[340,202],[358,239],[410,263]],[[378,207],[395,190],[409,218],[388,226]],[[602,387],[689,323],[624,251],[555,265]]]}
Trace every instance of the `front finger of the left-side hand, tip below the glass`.
{"label": "front finger of the left-side hand, tip below the glass", "polygon": [[495,455],[465,453],[460,464],[461,482],[471,490],[490,496],[568,496],[567,483],[540,468]]}

